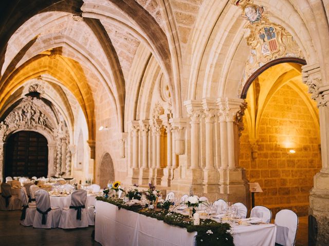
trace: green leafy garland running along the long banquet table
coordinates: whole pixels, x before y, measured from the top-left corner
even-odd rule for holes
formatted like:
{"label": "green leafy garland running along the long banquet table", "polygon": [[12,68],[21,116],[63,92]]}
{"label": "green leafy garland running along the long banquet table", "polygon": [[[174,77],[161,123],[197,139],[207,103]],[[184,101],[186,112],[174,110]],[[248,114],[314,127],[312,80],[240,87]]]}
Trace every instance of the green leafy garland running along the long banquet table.
{"label": "green leafy garland running along the long banquet table", "polygon": [[231,227],[228,223],[218,223],[212,219],[200,219],[200,225],[194,226],[193,221],[186,221],[188,216],[180,213],[168,212],[168,211],[149,211],[144,210],[139,206],[127,206],[124,201],[118,199],[114,200],[105,197],[96,197],[99,201],[111,203],[118,207],[133,211],[145,216],[162,220],[163,222],[172,226],[186,228],[188,232],[197,232],[196,235],[196,246],[232,246],[233,237],[229,233]]}

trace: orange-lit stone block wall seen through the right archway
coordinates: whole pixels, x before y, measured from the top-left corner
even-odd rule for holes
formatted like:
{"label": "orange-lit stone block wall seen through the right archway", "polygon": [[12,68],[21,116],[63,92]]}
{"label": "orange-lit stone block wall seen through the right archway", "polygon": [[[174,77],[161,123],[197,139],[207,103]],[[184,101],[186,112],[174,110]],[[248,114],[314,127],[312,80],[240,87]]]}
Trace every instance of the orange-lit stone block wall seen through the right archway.
{"label": "orange-lit stone block wall seen through the right archway", "polygon": [[[250,182],[259,182],[263,193],[255,194],[255,205],[276,212],[293,209],[308,212],[313,176],[321,168],[319,126],[300,95],[287,85],[268,101],[259,124],[257,158],[251,158],[247,124],[240,139],[240,165]],[[296,151],[289,153],[290,149]]]}

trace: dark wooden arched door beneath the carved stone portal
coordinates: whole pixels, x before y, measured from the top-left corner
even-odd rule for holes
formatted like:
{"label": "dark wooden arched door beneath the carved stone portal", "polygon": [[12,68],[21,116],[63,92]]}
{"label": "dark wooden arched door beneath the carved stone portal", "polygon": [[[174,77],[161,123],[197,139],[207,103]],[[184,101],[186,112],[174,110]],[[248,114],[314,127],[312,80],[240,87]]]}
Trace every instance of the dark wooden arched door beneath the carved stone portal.
{"label": "dark wooden arched door beneath the carved stone portal", "polygon": [[8,137],[5,177],[47,177],[48,141],[38,132],[19,131]]}

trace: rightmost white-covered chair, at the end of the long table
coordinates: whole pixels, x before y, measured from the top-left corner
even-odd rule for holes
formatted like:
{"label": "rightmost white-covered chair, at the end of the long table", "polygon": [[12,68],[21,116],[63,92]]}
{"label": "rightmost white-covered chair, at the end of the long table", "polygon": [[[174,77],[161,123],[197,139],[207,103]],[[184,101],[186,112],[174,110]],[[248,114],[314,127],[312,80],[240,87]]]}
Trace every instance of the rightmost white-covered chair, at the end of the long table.
{"label": "rightmost white-covered chair, at the end of the long table", "polygon": [[283,209],[276,215],[274,223],[277,226],[276,245],[293,246],[296,242],[298,216],[295,212]]}

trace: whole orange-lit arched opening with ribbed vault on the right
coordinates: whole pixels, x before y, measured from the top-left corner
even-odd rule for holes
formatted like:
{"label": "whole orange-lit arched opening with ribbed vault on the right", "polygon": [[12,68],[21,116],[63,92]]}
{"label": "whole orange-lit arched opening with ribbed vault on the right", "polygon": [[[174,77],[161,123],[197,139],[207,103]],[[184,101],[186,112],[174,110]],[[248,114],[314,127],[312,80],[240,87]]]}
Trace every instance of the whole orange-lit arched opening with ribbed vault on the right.
{"label": "whole orange-lit arched opening with ribbed vault on the right", "polygon": [[302,83],[301,65],[273,63],[255,73],[244,88],[244,130],[240,166],[263,193],[255,205],[275,214],[291,209],[308,214],[309,190],[321,168],[319,113]]}

